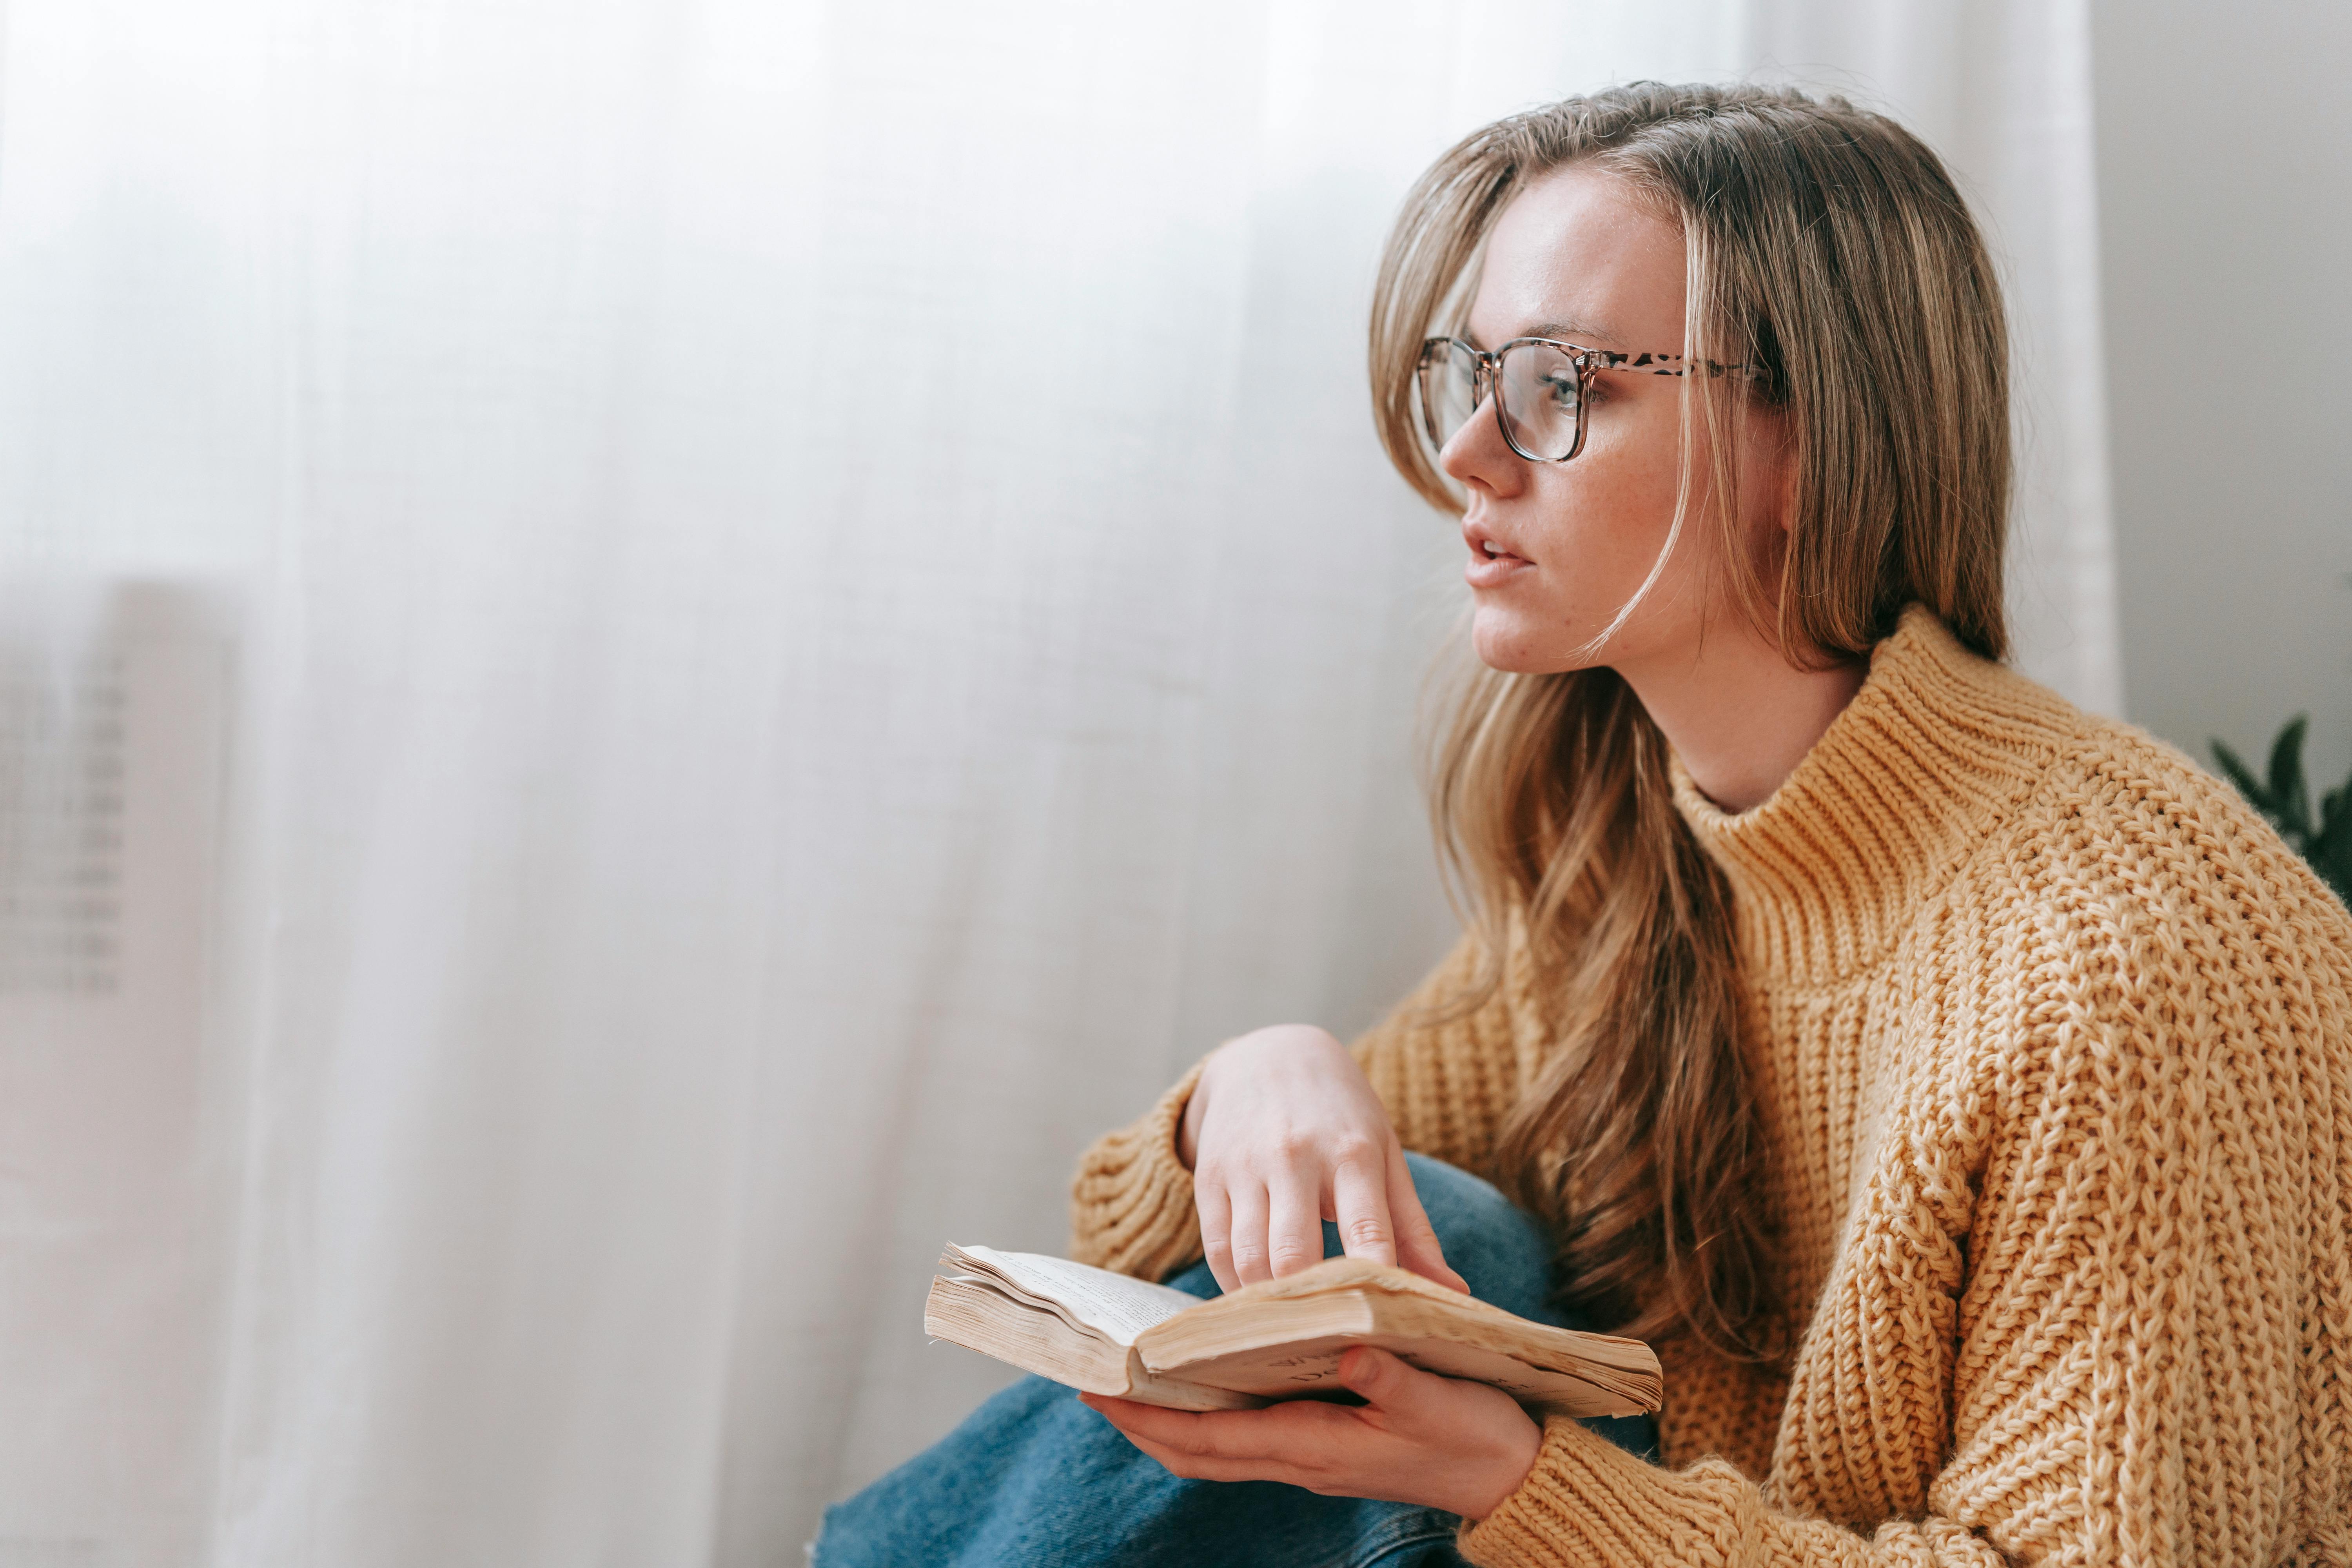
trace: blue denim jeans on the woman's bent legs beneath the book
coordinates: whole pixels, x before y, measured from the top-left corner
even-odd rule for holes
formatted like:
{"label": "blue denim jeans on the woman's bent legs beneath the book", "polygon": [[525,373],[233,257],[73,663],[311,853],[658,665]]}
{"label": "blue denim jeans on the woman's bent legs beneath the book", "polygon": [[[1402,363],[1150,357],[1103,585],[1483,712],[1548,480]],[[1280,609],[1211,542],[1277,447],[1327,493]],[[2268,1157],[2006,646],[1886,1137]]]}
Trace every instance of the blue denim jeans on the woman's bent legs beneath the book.
{"label": "blue denim jeans on the woman's bent legs beneath the book", "polygon": [[[1472,1295],[1573,1326],[1545,1302],[1543,1225],[1468,1171],[1404,1159]],[[1324,1225],[1324,1253],[1338,1251],[1338,1227]],[[1169,1284],[1218,1293],[1204,1262]],[[1588,1425],[1632,1453],[1656,1448],[1646,1415]],[[811,1559],[814,1568],[1461,1568],[1458,1526],[1439,1509],[1277,1481],[1178,1481],[1070,1389],[1023,1378],[828,1509]]]}

